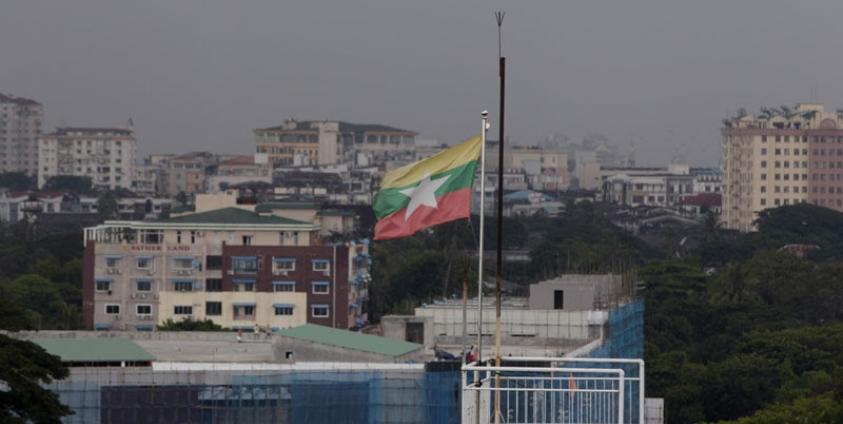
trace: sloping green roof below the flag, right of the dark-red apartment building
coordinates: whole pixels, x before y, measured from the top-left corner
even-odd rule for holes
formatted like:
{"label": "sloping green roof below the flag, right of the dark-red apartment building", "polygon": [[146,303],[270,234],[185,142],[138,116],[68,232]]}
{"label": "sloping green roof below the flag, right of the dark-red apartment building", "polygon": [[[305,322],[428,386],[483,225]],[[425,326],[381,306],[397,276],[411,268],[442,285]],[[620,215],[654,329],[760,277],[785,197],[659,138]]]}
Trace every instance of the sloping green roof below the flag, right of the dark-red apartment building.
{"label": "sloping green roof below the flag, right of the dark-red apartment building", "polygon": [[335,328],[314,324],[304,324],[298,327],[285,328],[283,330],[278,330],[276,334],[285,337],[292,337],[294,339],[306,340],[309,342],[387,356],[401,356],[423,347],[420,344],[388,339],[386,337],[372,336],[354,331],[337,330]]}

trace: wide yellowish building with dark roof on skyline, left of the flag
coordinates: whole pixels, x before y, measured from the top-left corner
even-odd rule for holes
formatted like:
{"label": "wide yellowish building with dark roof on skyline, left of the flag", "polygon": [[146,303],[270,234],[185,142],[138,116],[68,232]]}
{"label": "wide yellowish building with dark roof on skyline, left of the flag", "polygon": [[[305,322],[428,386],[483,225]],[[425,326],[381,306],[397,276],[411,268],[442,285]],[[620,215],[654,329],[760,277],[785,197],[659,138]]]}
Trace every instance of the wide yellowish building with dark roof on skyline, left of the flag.
{"label": "wide yellowish building with dark roof on skyline, left of the flag", "polygon": [[296,121],[254,131],[257,152],[276,166],[370,166],[412,160],[416,133],[378,124]]}

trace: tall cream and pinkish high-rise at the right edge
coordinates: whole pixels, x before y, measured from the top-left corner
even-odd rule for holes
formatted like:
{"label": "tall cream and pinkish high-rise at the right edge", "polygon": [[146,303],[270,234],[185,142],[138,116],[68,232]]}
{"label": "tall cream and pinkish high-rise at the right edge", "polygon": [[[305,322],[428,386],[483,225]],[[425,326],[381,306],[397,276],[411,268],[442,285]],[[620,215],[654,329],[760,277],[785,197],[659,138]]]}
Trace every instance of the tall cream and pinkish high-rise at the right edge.
{"label": "tall cream and pinkish high-rise at the right edge", "polygon": [[843,112],[741,111],[724,120],[722,144],[724,227],[752,231],[760,211],[796,203],[843,211]]}

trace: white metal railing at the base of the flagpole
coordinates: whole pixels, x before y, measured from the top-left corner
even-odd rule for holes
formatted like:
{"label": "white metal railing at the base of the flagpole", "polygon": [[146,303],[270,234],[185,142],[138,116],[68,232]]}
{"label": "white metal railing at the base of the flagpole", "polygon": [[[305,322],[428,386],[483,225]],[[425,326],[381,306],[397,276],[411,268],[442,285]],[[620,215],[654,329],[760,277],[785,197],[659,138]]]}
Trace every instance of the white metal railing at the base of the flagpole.
{"label": "white metal railing at the base of the flagpole", "polygon": [[506,357],[500,367],[470,363],[462,367],[462,423],[644,423],[643,376],[638,359]]}

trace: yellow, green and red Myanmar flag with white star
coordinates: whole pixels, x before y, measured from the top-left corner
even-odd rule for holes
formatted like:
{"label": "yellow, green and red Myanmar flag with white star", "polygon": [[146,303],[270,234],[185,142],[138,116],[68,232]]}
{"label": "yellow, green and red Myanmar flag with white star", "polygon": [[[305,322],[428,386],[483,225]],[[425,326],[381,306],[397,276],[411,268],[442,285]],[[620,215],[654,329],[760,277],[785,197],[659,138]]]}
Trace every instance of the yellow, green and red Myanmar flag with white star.
{"label": "yellow, green and red Myanmar flag with white star", "polygon": [[471,216],[471,186],[480,158],[480,137],[445,149],[384,176],[375,196],[375,240],[407,237],[419,230]]}

